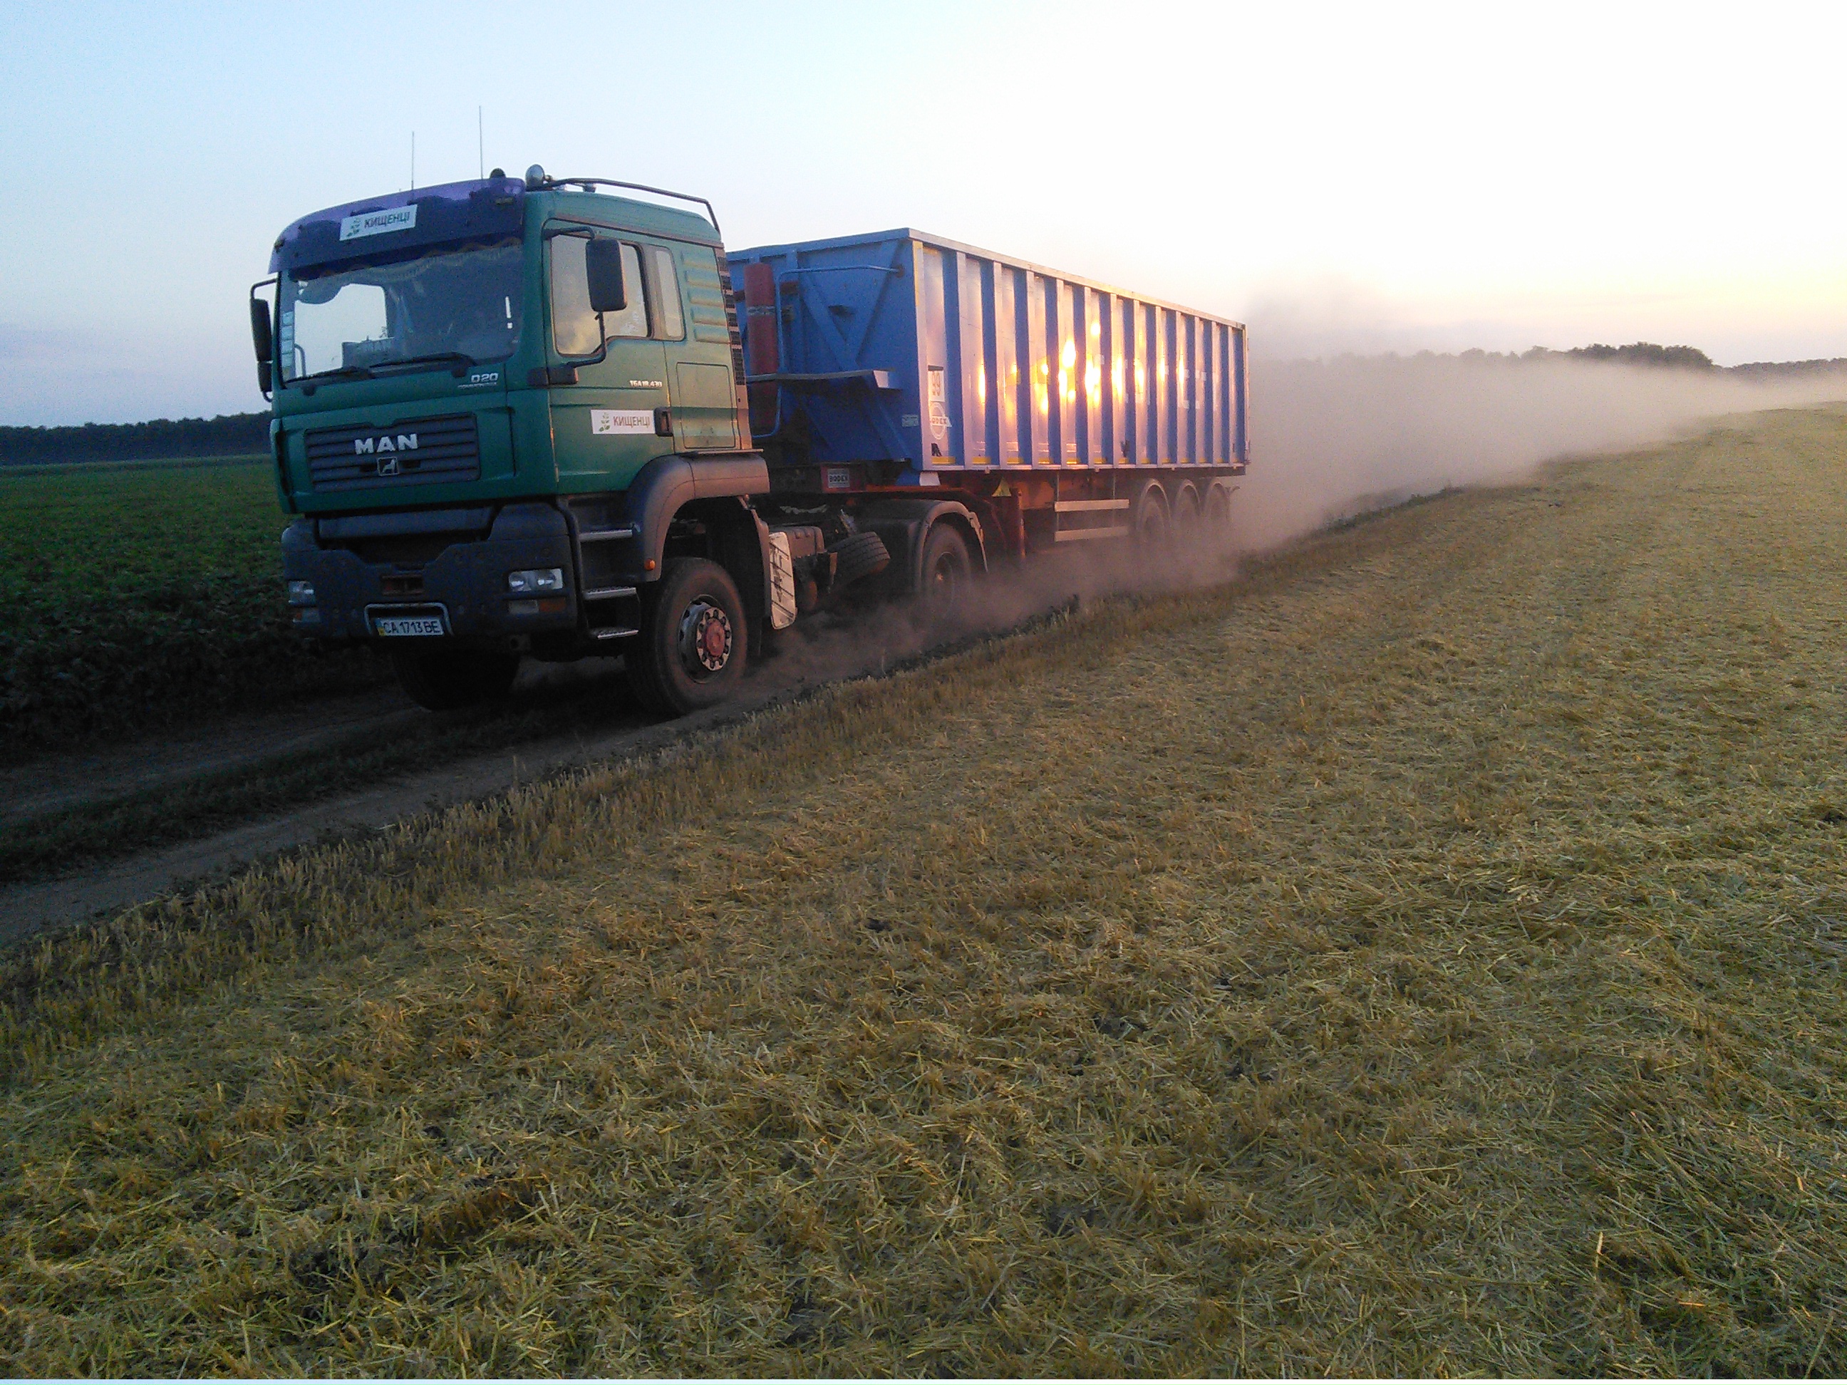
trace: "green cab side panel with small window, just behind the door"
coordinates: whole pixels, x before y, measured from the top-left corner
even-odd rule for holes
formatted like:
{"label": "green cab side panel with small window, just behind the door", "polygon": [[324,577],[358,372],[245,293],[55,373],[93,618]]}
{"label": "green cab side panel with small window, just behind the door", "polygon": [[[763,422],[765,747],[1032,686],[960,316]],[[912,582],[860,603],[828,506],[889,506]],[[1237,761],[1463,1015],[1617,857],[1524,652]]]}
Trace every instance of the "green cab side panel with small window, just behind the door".
{"label": "green cab side panel with small window, just behind the door", "polygon": [[[680,319],[667,338],[669,390],[674,397],[674,443],[680,451],[724,451],[739,445],[737,382],[731,379],[731,332],[724,286],[711,246],[650,246],[650,268],[663,305]],[[685,307],[680,312],[680,307]]]}

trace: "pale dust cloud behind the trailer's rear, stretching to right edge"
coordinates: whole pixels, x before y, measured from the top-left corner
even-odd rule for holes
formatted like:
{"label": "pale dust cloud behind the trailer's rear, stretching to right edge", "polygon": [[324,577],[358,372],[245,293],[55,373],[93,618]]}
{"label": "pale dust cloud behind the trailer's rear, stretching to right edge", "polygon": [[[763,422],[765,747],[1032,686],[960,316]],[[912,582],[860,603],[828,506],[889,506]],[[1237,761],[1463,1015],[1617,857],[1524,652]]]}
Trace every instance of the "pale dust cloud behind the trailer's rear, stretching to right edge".
{"label": "pale dust cloud behind the trailer's rear, stretching to right edge", "polygon": [[1516,482],[1542,462],[1710,427],[1725,414],[1847,399],[1847,377],[1509,356],[1335,356],[1250,366],[1250,471],[1237,539],[1271,548],[1444,486]]}

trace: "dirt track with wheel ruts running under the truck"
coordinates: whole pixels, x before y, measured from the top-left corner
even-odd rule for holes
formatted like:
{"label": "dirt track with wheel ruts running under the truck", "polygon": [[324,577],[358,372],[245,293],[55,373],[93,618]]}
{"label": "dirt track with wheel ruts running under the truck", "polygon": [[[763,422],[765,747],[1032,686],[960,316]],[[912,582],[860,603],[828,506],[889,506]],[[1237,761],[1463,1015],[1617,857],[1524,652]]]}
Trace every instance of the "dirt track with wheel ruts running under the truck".
{"label": "dirt track with wheel ruts running under the truck", "polygon": [[[1005,630],[1060,602],[1136,582],[1223,576],[1228,563],[1230,558],[1221,556],[1202,560],[1188,572],[1147,574],[1108,563],[1047,561],[1034,569],[1029,582],[997,585],[964,628],[938,635],[938,643],[953,644],[972,633]],[[255,813],[229,827],[185,833],[183,840],[157,849],[126,851],[100,862],[54,868],[46,872],[50,877],[0,885],[0,945],[42,927],[222,879],[279,851],[366,835],[430,807],[493,794],[571,765],[645,753],[802,696],[829,680],[912,659],[929,643],[925,632],[903,611],[803,626],[779,641],[774,659],[754,668],[737,700],[665,724],[634,707],[621,665],[613,659],[580,665],[528,663],[502,715],[508,724],[506,742],[486,752],[471,750],[469,742],[482,739],[484,731],[491,739],[491,718],[484,728],[480,713],[432,717],[388,689],[275,713],[231,717],[177,737],[48,755],[0,770],[0,825],[30,833],[52,814],[65,814],[68,820],[70,814],[105,811],[131,796],[146,800],[177,794],[212,776],[260,777],[273,766],[299,766],[318,755],[338,759],[355,744],[380,744],[393,737],[434,737],[436,753],[423,759],[438,761],[382,774],[358,789],[308,790],[299,796],[301,801],[279,811]],[[541,704],[558,715],[521,720]],[[445,722],[469,731],[467,737],[458,735],[458,744],[449,752],[441,750],[440,728]],[[565,729],[547,729],[560,724]]]}

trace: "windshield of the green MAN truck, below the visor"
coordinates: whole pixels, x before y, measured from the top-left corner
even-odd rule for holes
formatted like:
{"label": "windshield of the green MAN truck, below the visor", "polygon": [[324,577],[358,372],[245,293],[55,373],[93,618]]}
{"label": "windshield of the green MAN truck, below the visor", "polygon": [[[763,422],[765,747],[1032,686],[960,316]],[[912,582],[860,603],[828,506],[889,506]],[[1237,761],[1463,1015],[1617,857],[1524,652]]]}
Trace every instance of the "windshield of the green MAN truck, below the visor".
{"label": "windshield of the green MAN truck, below the visor", "polygon": [[283,275],[283,379],[504,360],[519,345],[521,244],[447,246]]}

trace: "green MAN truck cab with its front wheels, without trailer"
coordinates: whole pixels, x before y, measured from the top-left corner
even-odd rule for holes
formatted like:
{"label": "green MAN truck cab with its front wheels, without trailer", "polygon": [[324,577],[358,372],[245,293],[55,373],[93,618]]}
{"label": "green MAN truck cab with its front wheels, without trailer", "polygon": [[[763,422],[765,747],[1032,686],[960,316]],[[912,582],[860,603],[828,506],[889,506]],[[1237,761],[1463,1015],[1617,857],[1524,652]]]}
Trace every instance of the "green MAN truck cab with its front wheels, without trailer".
{"label": "green MAN truck cab with its front wheels, without trailer", "polygon": [[305,216],[270,268],[297,632],[386,644],[429,707],[523,656],[624,652],[663,711],[731,689],[776,545],[715,222],[497,170]]}

